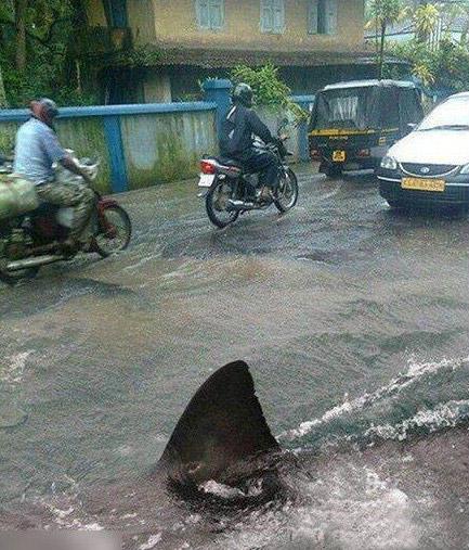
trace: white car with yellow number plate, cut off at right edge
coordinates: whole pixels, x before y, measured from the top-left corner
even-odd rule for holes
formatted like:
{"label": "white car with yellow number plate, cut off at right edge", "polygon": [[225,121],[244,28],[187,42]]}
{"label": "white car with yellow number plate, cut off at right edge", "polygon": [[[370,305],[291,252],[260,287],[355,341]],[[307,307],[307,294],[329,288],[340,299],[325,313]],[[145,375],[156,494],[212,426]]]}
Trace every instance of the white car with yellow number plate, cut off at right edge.
{"label": "white car with yellow number plate, cut off at right edge", "polygon": [[469,206],[469,92],[438,105],[378,170],[390,206]]}

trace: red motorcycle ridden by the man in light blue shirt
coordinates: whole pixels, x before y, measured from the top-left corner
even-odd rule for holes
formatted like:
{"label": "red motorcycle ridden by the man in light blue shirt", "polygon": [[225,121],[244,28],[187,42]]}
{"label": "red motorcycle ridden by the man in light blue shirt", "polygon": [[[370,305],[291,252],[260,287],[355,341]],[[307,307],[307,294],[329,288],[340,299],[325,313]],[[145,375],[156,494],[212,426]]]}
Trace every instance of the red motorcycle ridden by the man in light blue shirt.
{"label": "red motorcycle ridden by the man in light blue shirt", "polygon": [[[81,159],[90,179],[97,175],[99,163]],[[56,168],[57,179],[84,184],[83,178]],[[6,168],[3,168],[4,178]],[[95,193],[95,207],[86,234],[87,242],[79,251],[65,251],[71,227],[73,208],[60,208],[49,203],[26,214],[0,219],[0,281],[15,284],[22,279],[34,278],[42,266],[71,260],[78,252],[97,253],[105,258],[129,245],[132,226],[127,212],[112,197]]]}

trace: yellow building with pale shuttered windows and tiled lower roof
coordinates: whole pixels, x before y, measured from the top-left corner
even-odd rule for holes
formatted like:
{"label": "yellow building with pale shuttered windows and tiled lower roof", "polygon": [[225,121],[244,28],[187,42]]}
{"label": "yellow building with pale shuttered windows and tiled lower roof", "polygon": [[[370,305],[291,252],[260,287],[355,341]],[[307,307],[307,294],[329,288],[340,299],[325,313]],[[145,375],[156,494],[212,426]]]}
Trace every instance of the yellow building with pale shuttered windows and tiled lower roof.
{"label": "yellow building with pale shuttered windows and tiled lower roof", "polygon": [[89,26],[121,49],[102,78],[115,103],[187,98],[236,64],[271,61],[296,93],[374,73],[364,0],[86,1]]}

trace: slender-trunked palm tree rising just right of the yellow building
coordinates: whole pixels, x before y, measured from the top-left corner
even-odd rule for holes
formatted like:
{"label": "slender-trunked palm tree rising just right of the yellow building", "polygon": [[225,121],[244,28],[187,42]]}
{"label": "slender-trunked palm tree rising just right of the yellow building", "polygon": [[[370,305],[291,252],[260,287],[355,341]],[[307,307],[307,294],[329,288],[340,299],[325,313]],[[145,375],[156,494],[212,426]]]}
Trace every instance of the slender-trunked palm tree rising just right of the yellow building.
{"label": "slender-trunked palm tree rising just right of the yellow building", "polygon": [[376,28],[378,78],[382,78],[385,66],[387,30],[391,25],[402,21],[408,14],[408,10],[403,0],[372,0],[369,4],[370,18],[366,27]]}

